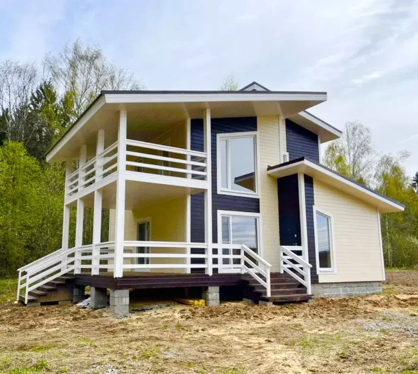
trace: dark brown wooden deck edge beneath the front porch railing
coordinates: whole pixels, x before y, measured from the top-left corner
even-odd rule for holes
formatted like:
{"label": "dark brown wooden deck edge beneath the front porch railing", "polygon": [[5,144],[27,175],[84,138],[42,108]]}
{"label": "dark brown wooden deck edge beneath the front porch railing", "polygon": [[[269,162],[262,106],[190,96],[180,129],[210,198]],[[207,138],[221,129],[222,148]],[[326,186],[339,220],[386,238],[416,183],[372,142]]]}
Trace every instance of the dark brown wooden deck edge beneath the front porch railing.
{"label": "dark brown wooden deck edge beneath the front porch railing", "polygon": [[125,273],[121,278],[114,278],[113,273],[100,275],[77,274],[75,284],[111,290],[175,288],[175,287],[205,287],[205,286],[237,286],[240,284],[240,274],[179,274],[179,273]]}

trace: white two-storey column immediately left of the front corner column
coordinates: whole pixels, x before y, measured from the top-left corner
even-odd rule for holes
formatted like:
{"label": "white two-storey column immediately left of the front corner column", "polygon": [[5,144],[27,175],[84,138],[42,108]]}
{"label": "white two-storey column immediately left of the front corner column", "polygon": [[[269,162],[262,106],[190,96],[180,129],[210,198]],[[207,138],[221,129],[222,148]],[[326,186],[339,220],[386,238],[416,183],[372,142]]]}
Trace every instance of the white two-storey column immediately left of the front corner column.
{"label": "white two-storey column immediately left of the front corner column", "polygon": [[[97,183],[100,179],[99,173],[101,170],[101,160],[99,155],[104,151],[104,130],[97,132],[97,144],[96,144],[96,165],[95,175]],[[93,245],[92,245],[92,260],[91,260],[91,275],[99,274],[99,255],[100,247],[96,248],[101,242],[102,233],[102,191],[94,191],[94,207],[93,207]]]}

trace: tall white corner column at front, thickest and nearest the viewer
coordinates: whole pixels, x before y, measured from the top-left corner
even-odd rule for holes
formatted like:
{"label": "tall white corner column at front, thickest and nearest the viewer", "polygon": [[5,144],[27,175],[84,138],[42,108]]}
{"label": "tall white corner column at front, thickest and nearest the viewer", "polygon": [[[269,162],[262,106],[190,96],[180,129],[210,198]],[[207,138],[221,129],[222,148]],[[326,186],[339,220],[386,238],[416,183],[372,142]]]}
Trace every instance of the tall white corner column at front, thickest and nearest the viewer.
{"label": "tall white corner column at front, thickest and nearest the viewer", "polygon": [[125,163],[126,163],[126,109],[121,108],[118,131],[118,179],[116,181],[115,260],[113,276],[123,276],[125,231]]}

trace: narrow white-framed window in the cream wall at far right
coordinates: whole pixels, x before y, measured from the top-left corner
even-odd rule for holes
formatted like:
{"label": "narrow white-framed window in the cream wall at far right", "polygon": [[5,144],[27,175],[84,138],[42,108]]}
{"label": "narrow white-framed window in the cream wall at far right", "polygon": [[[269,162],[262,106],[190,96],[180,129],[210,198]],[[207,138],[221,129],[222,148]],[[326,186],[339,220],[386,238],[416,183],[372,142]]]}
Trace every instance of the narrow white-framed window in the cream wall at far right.
{"label": "narrow white-framed window in the cream wall at far right", "polygon": [[335,272],[333,217],[314,207],[316,267],[318,273]]}

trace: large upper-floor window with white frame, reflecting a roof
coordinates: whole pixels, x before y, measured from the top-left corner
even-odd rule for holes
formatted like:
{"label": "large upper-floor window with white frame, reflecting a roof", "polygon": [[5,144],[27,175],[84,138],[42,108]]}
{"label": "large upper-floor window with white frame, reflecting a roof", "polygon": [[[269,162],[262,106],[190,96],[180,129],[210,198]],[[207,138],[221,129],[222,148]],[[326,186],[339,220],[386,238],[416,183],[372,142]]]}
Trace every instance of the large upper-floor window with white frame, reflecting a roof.
{"label": "large upper-floor window with white frame, reflecting a roof", "polygon": [[256,134],[217,135],[218,194],[254,196],[258,193]]}

